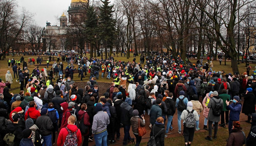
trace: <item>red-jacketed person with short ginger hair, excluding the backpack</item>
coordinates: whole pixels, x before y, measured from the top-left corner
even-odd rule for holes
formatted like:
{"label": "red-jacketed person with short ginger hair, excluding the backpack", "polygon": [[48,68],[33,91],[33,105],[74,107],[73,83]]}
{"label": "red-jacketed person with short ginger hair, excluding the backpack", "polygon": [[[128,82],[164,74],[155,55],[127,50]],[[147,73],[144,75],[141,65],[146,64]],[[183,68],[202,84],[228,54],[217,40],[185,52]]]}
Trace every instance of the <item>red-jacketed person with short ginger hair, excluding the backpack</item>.
{"label": "red-jacketed person with short ginger hair, excluding the backpack", "polygon": [[60,130],[58,140],[57,140],[57,146],[64,146],[65,139],[67,137],[67,134],[69,134],[68,130],[69,129],[71,132],[76,132],[77,134],[77,146],[80,146],[82,143],[82,135],[80,130],[77,128],[77,125],[74,125],[76,122],[76,118],[73,115],[70,115],[68,120],[68,125],[67,127],[64,127]]}

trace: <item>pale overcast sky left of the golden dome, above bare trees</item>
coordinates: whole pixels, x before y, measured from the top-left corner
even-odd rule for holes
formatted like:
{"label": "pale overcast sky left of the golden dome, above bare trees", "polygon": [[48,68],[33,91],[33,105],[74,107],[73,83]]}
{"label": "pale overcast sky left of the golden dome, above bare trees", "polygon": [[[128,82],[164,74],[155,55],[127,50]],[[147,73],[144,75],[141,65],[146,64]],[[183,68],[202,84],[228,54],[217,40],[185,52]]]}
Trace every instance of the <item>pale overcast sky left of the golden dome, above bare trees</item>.
{"label": "pale overcast sky left of the golden dome, above bare trees", "polygon": [[46,26],[46,21],[52,25],[60,25],[56,19],[67,13],[71,0],[17,0],[19,11],[24,7],[26,10],[34,14],[33,19],[39,26]]}

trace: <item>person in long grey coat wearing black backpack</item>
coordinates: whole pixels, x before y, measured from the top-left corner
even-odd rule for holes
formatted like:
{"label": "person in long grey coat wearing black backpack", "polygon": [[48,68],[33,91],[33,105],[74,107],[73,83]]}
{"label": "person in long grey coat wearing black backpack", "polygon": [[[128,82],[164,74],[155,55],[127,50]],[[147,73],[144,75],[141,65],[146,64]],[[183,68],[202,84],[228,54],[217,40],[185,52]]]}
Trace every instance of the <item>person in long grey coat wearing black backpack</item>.
{"label": "person in long grey coat wearing black backpack", "polygon": [[[218,106],[217,106],[218,105]],[[213,92],[213,98],[210,99],[207,108],[210,108],[208,117],[209,135],[205,138],[206,140],[212,140],[212,124],[214,124],[214,139],[217,139],[218,122],[220,122],[220,113],[223,109],[223,101],[218,96],[218,92]]]}

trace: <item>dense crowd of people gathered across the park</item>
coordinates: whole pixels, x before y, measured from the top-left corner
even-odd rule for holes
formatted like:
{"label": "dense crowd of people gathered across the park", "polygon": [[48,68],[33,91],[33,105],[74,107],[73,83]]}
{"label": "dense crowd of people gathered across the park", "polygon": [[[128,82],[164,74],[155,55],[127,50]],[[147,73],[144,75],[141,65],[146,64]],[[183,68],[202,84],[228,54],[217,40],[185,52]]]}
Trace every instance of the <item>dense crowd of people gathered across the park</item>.
{"label": "dense crowd of people gathered across the park", "polygon": [[[23,69],[14,61],[12,70],[20,82],[19,93],[10,93],[10,71],[5,75],[6,82],[0,79],[2,144],[51,146],[56,142],[55,132],[59,132],[57,146],[88,146],[93,140],[96,146],[107,146],[120,140],[123,127],[122,144],[135,138],[139,146],[145,134],[141,130],[148,122],[149,145],[166,145],[164,139],[176,129],[179,134],[183,132],[184,144],[190,146],[200,124],[208,130],[206,140],[218,139],[218,127],[227,125],[227,146],[242,146],[245,141],[247,146],[256,145],[256,70],[252,75],[251,68],[232,75],[214,71],[211,61],[210,66],[202,61],[192,64],[186,60],[185,64],[182,59],[160,55],[141,56],[139,62],[135,58],[128,62],[113,57],[88,59],[77,54],[64,54],[55,57],[56,61],[53,58],[50,56],[47,66],[37,66],[32,73],[28,64],[24,66],[24,60]],[[40,57],[37,64],[39,61]],[[53,67],[48,71],[50,61]],[[62,62],[67,62],[66,68]],[[10,64],[8,60],[8,67]],[[89,74],[83,88],[73,80],[75,65],[81,80]],[[112,80],[103,95],[99,95],[97,82],[100,72],[101,78]],[[251,123],[247,138],[239,122],[241,111],[248,116],[246,122]],[[149,115],[149,121],[145,121],[144,115]],[[174,116],[177,127],[172,124]],[[134,136],[129,134],[131,127]]]}

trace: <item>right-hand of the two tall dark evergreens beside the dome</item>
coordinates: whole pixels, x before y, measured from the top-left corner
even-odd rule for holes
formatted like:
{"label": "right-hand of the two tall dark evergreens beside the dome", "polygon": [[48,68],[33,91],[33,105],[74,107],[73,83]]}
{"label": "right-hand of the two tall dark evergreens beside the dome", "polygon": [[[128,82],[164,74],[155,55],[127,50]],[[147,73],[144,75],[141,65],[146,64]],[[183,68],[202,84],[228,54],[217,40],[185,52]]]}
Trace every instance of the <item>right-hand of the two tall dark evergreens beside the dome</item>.
{"label": "right-hand of the two tall dark evergreens beside the dome", "polygon": [[109,5],[109,0],[101,0],[103,5],[100,7],[99,14],[99,35],[105,47],[105,59],[108,58],[107,48],[110,48],[110,56],[115,40],[115,20],[113,19],[113,6]]}

